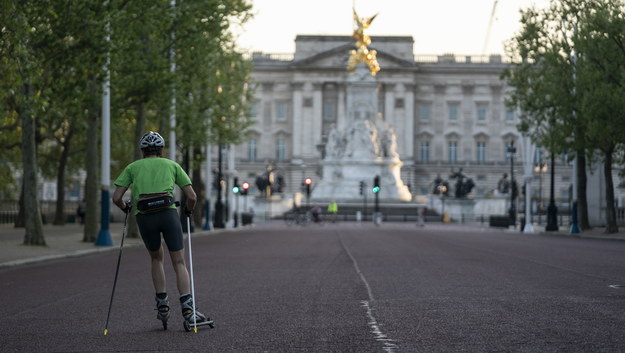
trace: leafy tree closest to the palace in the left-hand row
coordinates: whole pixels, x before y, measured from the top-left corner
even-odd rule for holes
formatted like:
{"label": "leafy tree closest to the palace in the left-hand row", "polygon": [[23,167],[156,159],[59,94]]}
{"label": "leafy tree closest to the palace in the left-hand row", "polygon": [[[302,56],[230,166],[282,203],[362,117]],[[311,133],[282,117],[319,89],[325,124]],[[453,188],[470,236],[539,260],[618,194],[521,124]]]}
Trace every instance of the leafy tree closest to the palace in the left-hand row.
{"label": "leafy tree closest to the palace in the left-hand row", "polygon": [[[207,140],[240,143],[251,125],[251,64],[235,50],[231,33],[234,24],[249,19],[250,9],[243,0],[180,2],[176,9],[177,147],[189,158],[199,205],[208,195],[199,178],[202,147]],[[199,226],[201,218],[195,223]]]}

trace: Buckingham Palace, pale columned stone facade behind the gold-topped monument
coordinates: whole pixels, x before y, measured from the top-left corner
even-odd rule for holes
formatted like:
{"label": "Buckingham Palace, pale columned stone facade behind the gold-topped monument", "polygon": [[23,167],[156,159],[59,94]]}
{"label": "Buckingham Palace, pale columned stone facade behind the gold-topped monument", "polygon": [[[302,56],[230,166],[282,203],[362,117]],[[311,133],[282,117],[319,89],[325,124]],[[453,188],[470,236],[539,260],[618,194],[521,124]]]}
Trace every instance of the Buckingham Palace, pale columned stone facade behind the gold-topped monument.
{"label": "Buckingham Palace, pale columned stone facade behind the gold-topped monument", "polygon": [[[523,149],[512,158],[507,152],[522,141],[518,112],[505,104],[509,87],[500,76],[508,64],[501,56],[421,56],[411,36],[371,39],[380,67],[377,118],[396,134],[401,179],[413,196],[431,194],[436,179],[459,171],[474,181],[474,198],[496,195],[504,173],[522,182]],[[293,54],[251,54],[255,124],[247,142],[233,148],[239,180],[253,181],[270,169],[279,179],[276,191],[289,195],[301,191],[306,177],[322,177],[328,135],[347,124],[353,43],[351,36],[298,35]],[[540,149],[532,157],[543,166],[533,176],[536,207],[549,198],[546,157]],[[565,201],[571,166],[562,158],[558,163],[555,197]],[[357,195],[358,185],[353,188]]]}

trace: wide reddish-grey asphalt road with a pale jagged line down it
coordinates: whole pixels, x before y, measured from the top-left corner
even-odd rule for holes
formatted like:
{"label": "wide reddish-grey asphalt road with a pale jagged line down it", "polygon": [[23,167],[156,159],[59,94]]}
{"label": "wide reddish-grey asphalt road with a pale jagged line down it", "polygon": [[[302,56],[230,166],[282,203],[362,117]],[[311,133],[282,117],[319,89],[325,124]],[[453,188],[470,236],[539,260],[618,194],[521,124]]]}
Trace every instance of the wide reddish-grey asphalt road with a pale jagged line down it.
{"label": "wide reddish-grey asphalt road with a pale jagged line down it", "polygon": [[175,301],[163,331],[148,256],[129,248],[105,336],[117,256],[0,271],[0,351],[625,351],[624,241],[355,223],[196,237],[216,323],[198,333]]}

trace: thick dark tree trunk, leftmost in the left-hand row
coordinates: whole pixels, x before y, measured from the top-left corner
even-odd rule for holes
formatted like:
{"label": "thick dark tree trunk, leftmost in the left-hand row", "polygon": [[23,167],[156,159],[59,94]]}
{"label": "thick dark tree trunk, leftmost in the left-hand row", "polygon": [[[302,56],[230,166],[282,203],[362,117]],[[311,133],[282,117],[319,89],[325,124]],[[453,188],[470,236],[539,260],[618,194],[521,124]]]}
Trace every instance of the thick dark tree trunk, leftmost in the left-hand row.
{"label": "thick dark tree trunk, leftmost in the left-hand row", "polygon": [[[32,98],[29,83],[24,83],[24,97],[26,102]],[[22,165],[24,169],[24,245],[46,245],[41,222],[41,210],[37,197],[37,151],[35,146],[35,119],[32,116],[28,103],[19,111],[22,122]]]}

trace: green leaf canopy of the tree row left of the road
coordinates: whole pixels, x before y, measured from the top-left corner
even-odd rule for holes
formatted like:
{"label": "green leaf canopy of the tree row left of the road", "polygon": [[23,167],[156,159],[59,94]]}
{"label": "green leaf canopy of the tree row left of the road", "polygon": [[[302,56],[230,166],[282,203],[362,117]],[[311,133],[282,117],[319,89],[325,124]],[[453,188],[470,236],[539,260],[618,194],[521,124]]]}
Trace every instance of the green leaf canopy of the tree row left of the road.
{"label": "green leaf canopy of the tree row left of the road", "polygon": [[111,175],[134,159],[137,131],[167,136],[174,97],[172,148],[241,142],[250,125],[251,66],[234,49],[231,30],[250,10],[246,0],[0,2],[0,195],[19,189],[11,171],[21,169],[24,109],[35,117],[40,172],[52,178],[58,168],[84,169],[85,146],[99,143],[86,136],[87,116],[99,109],[107,55]]}

